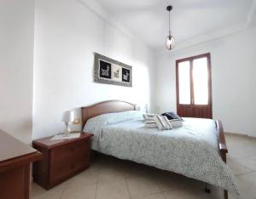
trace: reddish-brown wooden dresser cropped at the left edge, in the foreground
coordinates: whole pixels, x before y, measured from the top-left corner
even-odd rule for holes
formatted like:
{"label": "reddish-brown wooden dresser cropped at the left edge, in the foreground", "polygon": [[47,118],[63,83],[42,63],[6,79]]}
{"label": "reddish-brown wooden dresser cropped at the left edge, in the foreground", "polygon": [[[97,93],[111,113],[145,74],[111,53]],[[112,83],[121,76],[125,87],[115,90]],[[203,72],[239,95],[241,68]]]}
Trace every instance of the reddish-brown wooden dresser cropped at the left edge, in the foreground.
{"label": "reddish-brown wooden dresser cropped at the left edge, in the foreground", "polygon": [[42,154],[0,130],[0,198],[29,199],[31,163]]}

